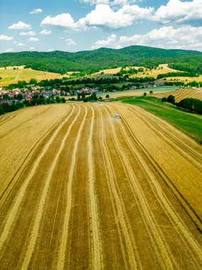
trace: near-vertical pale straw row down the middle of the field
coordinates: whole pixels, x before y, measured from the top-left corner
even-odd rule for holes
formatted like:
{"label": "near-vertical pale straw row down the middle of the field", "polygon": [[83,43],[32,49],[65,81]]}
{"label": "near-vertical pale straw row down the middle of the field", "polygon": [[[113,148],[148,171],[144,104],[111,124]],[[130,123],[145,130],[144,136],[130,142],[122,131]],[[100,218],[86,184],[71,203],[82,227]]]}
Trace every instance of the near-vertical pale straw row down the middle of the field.
{"label": "near-vertical pale straw row down the middle of the field", "polygon": [[92,136],[94,131],[94,108],[92,108],[92,119],[88,141],[88,167],[89,167],[89,212],[90,212],[90,225],[91,225],[91,251],[92,251],[92,269],[103,269],[102,259],[102,247],[101,247],[101,236],[100,236],[100,225],[99,225],[99,209],[98,199],[96,195],[96,181],[94,177],[94,159],[93,159],[93,143]]}

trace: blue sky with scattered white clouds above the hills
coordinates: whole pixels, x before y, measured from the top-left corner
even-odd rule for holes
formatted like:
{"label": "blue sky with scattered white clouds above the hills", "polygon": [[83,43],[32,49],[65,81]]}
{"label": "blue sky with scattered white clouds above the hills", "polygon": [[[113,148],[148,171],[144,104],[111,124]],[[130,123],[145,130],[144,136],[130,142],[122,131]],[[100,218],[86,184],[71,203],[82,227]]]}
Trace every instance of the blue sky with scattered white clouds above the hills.
{"label": "blue sky with scattered white clouds above the hills", "polygon": [[0,53],[147,45],[202,51],[202,0],[0,0]]}

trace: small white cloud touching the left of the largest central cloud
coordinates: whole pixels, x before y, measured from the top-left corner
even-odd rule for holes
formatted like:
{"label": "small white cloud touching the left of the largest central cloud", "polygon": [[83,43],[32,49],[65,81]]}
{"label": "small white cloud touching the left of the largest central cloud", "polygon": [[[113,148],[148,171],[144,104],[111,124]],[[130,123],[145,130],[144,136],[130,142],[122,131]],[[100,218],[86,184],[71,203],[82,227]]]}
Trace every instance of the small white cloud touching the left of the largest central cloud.
{"label": "small white cloud touching the left of the largest central cloud", "polygon": [[55,17],[47,16],[40,23],[41,26],[53,26],[56,28],[64,28],[67,30],[77,30],[77,23],[74,22],[74,19],[69,13],[62,13]]}

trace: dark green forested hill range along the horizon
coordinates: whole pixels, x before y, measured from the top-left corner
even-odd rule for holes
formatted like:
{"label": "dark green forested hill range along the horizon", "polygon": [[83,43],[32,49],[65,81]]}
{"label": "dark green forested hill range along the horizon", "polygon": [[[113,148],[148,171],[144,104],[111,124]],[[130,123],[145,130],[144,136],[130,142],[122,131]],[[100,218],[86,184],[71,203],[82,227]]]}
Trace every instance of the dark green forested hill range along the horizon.
{"label": "dark green forested hill range along the horizon", "polygon": [[59,72],[101,70],[116,66],[143,65],[154,68],[159,63],[169,63],[172,68],[202,73],[202,52],[195,50],[166,50],[145,46],[121,49],[99,48],[77,53],[55,50],[53,52],[1,53],[0,67],[26,65],[34,70]]}

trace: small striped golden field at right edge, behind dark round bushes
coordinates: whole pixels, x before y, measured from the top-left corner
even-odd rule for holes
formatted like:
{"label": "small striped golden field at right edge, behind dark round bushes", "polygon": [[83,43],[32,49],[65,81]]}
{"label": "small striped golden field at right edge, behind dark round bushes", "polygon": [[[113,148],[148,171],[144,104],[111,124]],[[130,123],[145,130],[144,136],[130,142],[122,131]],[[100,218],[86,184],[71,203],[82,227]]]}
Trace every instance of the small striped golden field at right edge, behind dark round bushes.
{"label": "small striped golden field at right edge, behind dark round bushes", "polygon": [[175,101],[179,102],[181,99],[193,98],[202,100],[202,90],[194,89],[194,88],[181,88],[172,93],[157,93],[155,97],[168,97],[169,95],[173,95],[175,97]]}

